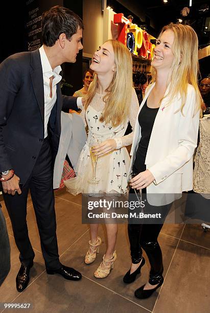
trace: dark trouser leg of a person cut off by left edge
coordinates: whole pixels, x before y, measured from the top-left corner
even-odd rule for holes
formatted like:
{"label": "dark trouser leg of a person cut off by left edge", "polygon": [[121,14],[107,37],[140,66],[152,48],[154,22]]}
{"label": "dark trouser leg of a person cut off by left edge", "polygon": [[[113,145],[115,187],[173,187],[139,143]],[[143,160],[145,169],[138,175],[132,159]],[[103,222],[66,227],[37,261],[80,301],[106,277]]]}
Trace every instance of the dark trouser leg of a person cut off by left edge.
{"label": "dark trouser leg of a person cut off by left edge", "polygon": [[10,271],[10,243],[0,204],[0,286]]}

